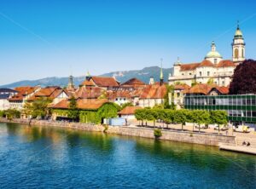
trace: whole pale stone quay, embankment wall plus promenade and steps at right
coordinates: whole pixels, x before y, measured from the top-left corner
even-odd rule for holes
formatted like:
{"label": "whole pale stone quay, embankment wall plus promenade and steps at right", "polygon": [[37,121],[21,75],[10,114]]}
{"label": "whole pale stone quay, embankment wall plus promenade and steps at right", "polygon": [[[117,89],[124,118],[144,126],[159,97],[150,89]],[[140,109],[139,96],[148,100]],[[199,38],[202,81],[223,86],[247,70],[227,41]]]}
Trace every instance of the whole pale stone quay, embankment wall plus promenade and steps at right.
{"label": "whole pale stone quay, embankment wall plus promenade and steps at right", "polygon": [[[115,135],[131,135],[138,136],[143,138],[154,139],[154,129],[160,128],[160,125],[156,124],[155,128],[142,127],[134,124],[127,126],[103,126],[100,124],[88,124],[88,123],[67,123],[67,122],[56,122],[48,120],[27,120],[27,119],[14,119],[9,121],[5,118],[0,118],[0,122],[3,123],[23,123],[31,124],[38,126],[50,126],[66,129],[80,129],[86,131],[95,131],[95,132],[104,132],[106,134],[115,134]],[[175,129],[175,127],[177,127]],[[233,152],[243,152],[256,154],[256,137],[254,133],[251,134],[242,134],[242,133],[211,133],[210,130],[201,129],[201,132],[197,130],[190,130],[191,128],[185,127],[184,130],[178,129],[180,125],[170,125],[168,129],[161,129],[162,136],[160,140],[172,140],[185,143],[194,143],[206,146],[218,146],[221,150],[228,150]],[[228,134],[228,135],[224,135]],[[242,146],[242,141],[249,141],[250,146]]]}

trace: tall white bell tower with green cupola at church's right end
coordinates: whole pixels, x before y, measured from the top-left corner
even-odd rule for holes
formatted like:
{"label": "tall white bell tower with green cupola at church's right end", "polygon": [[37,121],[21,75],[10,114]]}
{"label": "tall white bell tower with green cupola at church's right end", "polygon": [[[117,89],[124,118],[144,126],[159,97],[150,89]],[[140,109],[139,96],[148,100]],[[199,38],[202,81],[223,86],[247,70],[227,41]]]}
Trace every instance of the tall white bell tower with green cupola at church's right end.
{"label": "tall white bell tower with green cupola at church's right end", "polygon": [[232,43],[232,60],[236,65],[245,60],[245,45],[246,44],[244,43],[242,32],[239,27],[239,22],[237,22],[236,33]]}

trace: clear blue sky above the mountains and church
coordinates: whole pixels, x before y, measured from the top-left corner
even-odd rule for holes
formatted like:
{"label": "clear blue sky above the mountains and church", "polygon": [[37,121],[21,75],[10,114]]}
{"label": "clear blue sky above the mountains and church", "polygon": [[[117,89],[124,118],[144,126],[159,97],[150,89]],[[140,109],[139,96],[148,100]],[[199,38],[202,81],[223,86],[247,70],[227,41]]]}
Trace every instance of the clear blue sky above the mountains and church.
{"label": "clear blue sky above the mountains and church", "polygon": [[201,61],[212,40],[231,57],[241,20],[256,59],[256,3],[164,0],[0,0],[0,84]]}

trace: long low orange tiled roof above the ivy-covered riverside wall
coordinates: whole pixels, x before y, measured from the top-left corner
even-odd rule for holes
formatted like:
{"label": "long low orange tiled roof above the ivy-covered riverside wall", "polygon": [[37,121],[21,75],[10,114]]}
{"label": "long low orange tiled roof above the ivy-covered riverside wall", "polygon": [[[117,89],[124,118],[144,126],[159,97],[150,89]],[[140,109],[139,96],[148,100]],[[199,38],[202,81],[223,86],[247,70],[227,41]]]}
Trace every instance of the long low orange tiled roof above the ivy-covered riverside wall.
{"label": "long low orange tiled roof above the ivy-covered riverside wall", "polygon": [[[104,104],[108,103],[108,100],[101,99],[79,99],[77,100],[77,106],[83,110],[97,110]],[[59,103],[52,105],[54,109],[68,109],[69,100],[61,100]]]}

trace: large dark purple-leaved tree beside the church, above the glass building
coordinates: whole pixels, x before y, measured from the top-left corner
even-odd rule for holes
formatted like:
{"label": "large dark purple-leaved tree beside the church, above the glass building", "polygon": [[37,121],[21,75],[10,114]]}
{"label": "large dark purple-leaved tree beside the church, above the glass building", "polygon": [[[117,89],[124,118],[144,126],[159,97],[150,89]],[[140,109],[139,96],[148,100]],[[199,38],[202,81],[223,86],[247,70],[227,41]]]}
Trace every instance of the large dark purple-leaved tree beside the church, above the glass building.
{"label": "large dark purple-leaved tree beside the church, above the glass building", "polygon": [[256,61],[245,60],[236,66],[233,80],[230,83],[230,94],[256,93]]}

